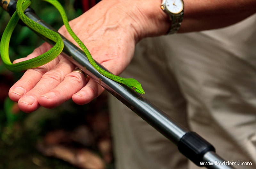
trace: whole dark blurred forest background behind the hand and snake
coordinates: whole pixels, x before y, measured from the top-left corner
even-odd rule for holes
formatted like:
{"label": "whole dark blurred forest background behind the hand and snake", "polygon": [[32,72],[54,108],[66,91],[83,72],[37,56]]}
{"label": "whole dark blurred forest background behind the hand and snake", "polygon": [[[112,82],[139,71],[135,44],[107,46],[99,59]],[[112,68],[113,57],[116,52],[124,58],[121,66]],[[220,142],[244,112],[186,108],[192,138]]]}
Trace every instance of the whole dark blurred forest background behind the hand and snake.
{"label": "whole dark blurred forest background behind the hand and snake", "polygon": [[[59,2],[69,20],[83,13],[81,1]],[[31,7],[56,30],[63,25],[51,4],[33,1]],[[0,36],[9,19],[0,7]],[[27,56],[43,42],[28,27],[17,25],[9,46],[11,60]],[[0,169],[114,168],[107,94],[83,106],[69,100],[54,109],[24,113],[8,97],[22,74],[10,72],[0,61]]]}

